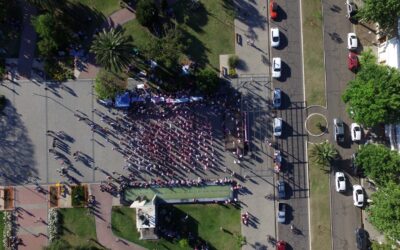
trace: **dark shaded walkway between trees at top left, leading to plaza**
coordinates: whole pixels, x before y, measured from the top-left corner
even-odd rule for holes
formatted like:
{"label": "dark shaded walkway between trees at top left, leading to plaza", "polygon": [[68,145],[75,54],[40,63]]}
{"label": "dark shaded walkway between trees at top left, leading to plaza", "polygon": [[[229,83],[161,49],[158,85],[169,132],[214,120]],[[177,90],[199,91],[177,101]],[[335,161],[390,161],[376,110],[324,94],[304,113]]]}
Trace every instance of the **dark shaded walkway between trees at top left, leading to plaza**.
{"label": "dark shaded walkway between trees at top left, leading to plaza", "polygon": [[36,15],[36,7],[25,0],[21,1],[23,14],[23,29],[21,34],[21,45],[19,48],[18,74],[23,78],[30,78],[32,63],[36,49],[36,32],[31,24],[31,18]]}

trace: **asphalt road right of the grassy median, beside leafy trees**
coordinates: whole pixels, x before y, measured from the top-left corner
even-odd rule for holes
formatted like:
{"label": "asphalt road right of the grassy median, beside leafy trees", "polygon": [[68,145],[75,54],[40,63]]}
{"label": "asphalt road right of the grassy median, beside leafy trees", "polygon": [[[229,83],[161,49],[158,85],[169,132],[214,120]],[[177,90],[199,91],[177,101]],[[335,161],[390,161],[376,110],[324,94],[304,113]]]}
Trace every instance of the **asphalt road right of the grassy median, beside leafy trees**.
{"label": "asphalt road right of the grassy median, beside leafy trees", "polygon": [[[333,141],[330,131],[330,140],[336,145],[341,160],[334,163],[331,174],[331,214],[333,249],[355,249],[354,230],[361,225],[361,211],[353,205],[352,185],[359,182],[351,176],[350,157],[357,145],[351,143],[351,119],[345,111],[341,95],[347,83],[354,78],[354,74],[347,69],[347,33],[353,28],[346,18],[346,6],[343,0],[322,1],[324,16],[324,46],[326,67],[326,90],[328,101],[329,127],[333,128],[333,118],[340,117],[345,123],[345,143],[337,145]],[[333,39],[333,37],[339,37]],[[332,129],[331,129],[332,130]],[[348,177],[348,188],[345,194],[335,191],[334,172],[344,171]]]}

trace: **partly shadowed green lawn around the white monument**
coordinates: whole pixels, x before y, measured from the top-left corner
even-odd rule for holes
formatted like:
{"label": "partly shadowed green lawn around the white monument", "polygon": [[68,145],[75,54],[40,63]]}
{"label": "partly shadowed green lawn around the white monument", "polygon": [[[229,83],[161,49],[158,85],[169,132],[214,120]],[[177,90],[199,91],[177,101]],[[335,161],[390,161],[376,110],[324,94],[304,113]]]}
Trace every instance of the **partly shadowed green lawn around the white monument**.
{"label": "partly shadowed green lawn around the white monument", "polygon": [[[232,206],[215,204],[166,205],[158,207],[159,225],[170,230],[178,230],[182,238],[191,234],[202,242],[206,241],[210,249],[240,249],[236,235],[240,233],[240,210]],[[172,239],[161,238],[158,241],[139,240],[136,231],[135,209],[114,207],[111,215],[114,234],[148,249],[193,249],[181,247]],[[171,220],[167,217],[171,212]],[[164,213],[165,214],[164,214]],[[185,221],[183,218],[188,215]],[[225,231],[221,231],[220,227]]]}

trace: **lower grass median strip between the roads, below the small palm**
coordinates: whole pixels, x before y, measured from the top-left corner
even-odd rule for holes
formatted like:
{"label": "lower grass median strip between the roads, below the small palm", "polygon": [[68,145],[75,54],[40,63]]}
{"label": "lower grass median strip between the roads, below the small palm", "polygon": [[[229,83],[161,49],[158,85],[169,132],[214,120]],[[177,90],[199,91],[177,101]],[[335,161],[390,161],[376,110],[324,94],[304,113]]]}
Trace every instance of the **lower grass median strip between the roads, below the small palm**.
{"label": "lower grass median strip between the roads, below the small palm", "polygon": [[[310,148],[312,144],[308,144]],[[308,155],[310,159],[310,155]],[[329,173],[315,163],[308,162],[310,178],[311,249],[329,249],[331,238],[331,213],[329,207]]]}

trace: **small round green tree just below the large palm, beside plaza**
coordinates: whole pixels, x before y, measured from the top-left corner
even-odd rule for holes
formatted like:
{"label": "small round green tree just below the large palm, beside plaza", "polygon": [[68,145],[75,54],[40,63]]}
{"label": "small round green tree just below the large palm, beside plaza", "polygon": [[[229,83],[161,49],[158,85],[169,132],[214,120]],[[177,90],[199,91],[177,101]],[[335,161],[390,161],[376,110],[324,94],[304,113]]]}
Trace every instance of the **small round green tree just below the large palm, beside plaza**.
{"label": "small round green tree just below the large palm, beside plaza", "polygon": [[101,69],[96,76],[94,90],[100,99],[110,99],[123,92],[126,84],[125,77]]}

